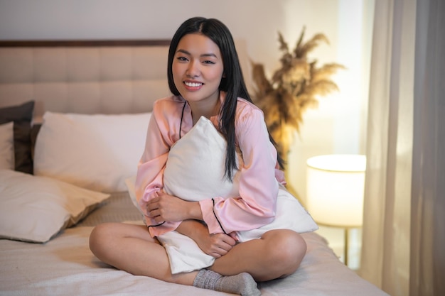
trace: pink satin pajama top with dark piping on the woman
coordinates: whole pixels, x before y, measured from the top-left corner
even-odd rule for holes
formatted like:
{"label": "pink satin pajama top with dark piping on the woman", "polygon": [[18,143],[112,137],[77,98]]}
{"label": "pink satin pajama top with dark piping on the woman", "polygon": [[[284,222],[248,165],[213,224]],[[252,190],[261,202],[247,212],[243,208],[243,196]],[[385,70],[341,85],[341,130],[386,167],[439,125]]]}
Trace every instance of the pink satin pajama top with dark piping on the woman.
{"label": "pink satin pajama top with dark piping on the woman", "polygon": [[[225,93],[221,92],[223,102]],[[185,104],[185,106],[184,106]],[[184,109],[183,109],[184,108]],[[181,114],[182,124],[181,124]],[[210,118],[218,128],[218,116]],[[182,97],[166,97],[154,103],[149,122],[144,153],[136,175],[136,199],[145,213],[152,237],[176,229],[181,221],[166,221],[159,226],[146,212],[146,203],[163,189],[163,170],[168,151],[179,140],[179,128],[184,136],[193,127],[191,109]],[[285,184],[284,172],[279,170],[277,150],[269,141],[262,111],[237,99],[235,138],[244,164],[240,169],[240,197],[224,199],[208,197],[199,202],[203,221],[210,234],[256,229],[274,220],[279,183]],[[232,236],[236,237],[235,234]]]}

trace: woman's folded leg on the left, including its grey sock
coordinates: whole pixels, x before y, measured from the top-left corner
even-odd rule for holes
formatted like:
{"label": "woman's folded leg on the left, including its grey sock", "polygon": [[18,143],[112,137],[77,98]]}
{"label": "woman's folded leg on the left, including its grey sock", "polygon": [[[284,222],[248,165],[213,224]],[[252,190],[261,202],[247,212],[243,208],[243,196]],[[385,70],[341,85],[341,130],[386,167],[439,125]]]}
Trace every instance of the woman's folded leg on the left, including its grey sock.
{"label": "woman's folded leg on the left, including its grey sock", "polygon": [[104,263],[134,275],[245,296],[260,295],[257,283],[247,273],[223,276],[200,270],[172,275],[165,248],[151,239],[146,226],[100,224],[90,235],[90,249]]}

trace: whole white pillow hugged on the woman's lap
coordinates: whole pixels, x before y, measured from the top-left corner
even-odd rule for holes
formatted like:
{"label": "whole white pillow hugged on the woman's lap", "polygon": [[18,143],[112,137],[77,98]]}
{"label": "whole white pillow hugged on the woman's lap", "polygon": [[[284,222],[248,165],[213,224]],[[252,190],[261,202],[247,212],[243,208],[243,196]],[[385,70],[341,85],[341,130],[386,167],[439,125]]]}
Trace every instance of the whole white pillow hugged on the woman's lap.
{"label": "whole white pillow hugged on the woman's lap", "polygon": [[[168,194],[193,201],[239,196],[239,174],[235,174],[233,182],[224,178],[225,151],[226,141],[223,136],[209,119],[201,117],[191,131],[171,147],[163,172],[164,190]],[[242,163],[242,159],[238,158],[238,161]],[[276,214],[270,224],[249,231],[237,231],[238,239],[241,242],[259,239],[272,229],[292,229],[300,233],[318,229],[299,201],[281,186]],[[176,231],[162,234],[158,239],[166,248],[173,274],[206,268],[215,260],[205,254],[191,238]]]}

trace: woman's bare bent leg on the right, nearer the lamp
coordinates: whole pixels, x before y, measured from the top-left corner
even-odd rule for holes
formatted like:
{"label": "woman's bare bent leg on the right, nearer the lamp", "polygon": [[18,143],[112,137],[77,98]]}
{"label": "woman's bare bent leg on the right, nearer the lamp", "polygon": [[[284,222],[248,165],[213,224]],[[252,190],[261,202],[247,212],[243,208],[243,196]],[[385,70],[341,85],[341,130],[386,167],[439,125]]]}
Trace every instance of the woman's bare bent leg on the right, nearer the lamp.
{"label": "woman's bare bent leg on the right, nearer the lamp", "polygon": [[267,231],[261,239],[234,246],[211,267],[221,275],[250,273],[258,282],[284,278],[295,272],[306,254],[306,241],[294,231]]}

